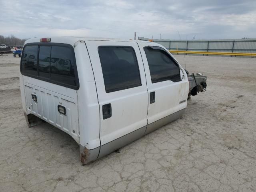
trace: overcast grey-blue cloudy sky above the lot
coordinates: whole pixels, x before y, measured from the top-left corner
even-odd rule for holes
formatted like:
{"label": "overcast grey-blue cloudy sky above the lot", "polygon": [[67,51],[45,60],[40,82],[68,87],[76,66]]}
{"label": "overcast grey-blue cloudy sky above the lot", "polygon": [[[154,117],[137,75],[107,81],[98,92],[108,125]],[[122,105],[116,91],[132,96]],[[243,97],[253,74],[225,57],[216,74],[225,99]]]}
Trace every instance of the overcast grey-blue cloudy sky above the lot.
{"label": "overcast grey-blue cloudy sky above the lot", "polygon": [[256,38],[256,0],[0,0],[0,35]]}

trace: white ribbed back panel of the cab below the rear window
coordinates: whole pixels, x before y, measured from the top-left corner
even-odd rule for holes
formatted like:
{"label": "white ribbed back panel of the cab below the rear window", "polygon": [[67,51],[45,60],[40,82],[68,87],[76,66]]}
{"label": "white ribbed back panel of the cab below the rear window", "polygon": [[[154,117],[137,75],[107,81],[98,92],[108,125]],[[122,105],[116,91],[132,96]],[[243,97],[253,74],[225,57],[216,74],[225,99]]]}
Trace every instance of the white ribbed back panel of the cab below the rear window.
{"label": "white ribbed back panel of the cab below the rear window", "polygon": [[[24,90],[27,114],[31,113],[38,116],[70,134],[76,142],[79,142],[76,90],[27,76],[24,76]],[[37,96],[37,102],[32,99],[31,94]],[[66,107],[66,115],[60,114],[56,110],[58,104]]]}

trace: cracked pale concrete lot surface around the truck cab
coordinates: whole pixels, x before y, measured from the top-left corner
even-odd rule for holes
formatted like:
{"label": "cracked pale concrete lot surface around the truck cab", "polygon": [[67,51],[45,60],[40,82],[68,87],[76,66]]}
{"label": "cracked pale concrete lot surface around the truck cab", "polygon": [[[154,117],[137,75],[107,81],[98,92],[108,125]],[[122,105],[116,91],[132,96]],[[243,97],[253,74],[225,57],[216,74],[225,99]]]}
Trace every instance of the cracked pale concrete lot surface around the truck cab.
{"label": "cracked pale concrete lot surface around the truck cab", "polygon": [[19,62],[0,56],[0,191],[256,190],[256,58],[186,56],[189,72],[208,76],[207,91],[180,119],[85,166],[70,136],[27,126]]}

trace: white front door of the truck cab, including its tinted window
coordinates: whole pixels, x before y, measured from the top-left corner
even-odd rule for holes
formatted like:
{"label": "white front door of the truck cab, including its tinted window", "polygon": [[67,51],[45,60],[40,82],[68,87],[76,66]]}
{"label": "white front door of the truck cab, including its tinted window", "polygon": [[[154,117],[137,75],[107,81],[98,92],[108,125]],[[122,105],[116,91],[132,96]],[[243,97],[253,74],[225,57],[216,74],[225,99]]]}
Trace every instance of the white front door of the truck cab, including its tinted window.
{"label": "white front door of the truck cab, including its tinted window", "polygon": [[178,118],[186,108],[188,80],[178,62],[159,44],[138,42],[148,86],[149,133]]}

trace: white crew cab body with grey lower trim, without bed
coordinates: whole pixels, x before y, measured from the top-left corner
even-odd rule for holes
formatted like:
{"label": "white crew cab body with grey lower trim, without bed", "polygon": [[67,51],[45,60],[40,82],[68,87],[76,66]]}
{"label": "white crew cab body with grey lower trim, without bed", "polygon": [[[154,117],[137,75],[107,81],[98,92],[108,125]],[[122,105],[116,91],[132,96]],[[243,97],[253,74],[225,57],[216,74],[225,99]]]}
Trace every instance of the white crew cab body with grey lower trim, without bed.
{"label": "white crew cab body with grey lower trim, without bed", "polygon": [[179,118],[189,83],[160,44],[52,37],[25,42],[20,90],[28,125],[72,136],[86,164]]}

